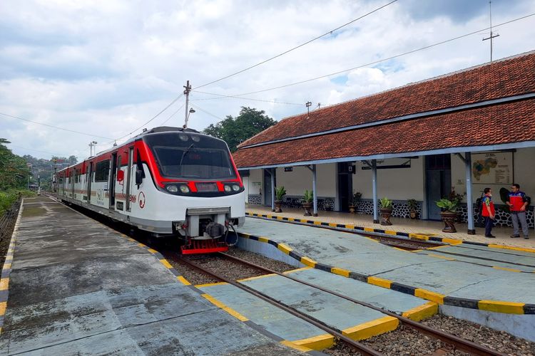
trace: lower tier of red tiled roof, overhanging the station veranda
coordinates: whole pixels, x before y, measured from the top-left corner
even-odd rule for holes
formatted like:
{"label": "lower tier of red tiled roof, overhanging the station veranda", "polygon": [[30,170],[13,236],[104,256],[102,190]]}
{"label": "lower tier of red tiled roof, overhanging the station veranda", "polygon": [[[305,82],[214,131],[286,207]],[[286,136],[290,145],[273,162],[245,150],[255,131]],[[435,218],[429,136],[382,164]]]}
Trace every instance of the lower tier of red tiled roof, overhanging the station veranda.
{"label": "lower tier of red tiled roof, overhanging the station veranda", "polygon": [[529,99],[244,148],[233,157],[238,167],[258,167],[534,140],[535,99]]}

